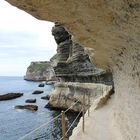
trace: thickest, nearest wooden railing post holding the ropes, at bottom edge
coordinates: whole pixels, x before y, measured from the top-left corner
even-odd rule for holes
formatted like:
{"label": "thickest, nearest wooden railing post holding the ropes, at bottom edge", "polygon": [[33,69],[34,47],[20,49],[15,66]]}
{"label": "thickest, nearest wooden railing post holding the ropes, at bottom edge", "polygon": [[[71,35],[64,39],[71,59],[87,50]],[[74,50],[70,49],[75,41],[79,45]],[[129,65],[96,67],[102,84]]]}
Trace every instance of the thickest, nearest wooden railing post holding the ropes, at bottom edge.
{"label": "thickest, nearest wooden railing post holding the ropes, at bottom edge", "polygon": [[61,123],[62,123],[62,136],[63,136],[63,140],[66,140],[65,112],[62,111],[61,114],[62,114],[62,121],[61,121]]}

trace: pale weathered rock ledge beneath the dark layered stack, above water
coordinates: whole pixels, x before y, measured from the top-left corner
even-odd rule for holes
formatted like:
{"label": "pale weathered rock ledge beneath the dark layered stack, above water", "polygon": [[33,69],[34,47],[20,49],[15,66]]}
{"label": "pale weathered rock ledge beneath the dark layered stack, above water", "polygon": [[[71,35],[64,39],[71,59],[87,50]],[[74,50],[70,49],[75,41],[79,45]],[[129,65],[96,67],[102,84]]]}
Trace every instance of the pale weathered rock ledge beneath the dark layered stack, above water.
{"label": "pale weathered rock ledge beneath the dark layered stack, above water", "polygon": [[51,109],[67,109],[72,104],[70,111],[81,111],[83,103],[83,95],[85,94],[85,109],[88,108],[88,96],[90,95],[90,102],[92,103],[96,98],[102,96],[106,91],[109,92],[112,87],[103,84],[94,83],[78,83],[78,82],[64,82],[55,84],[55,89],[50,93],[50,99],[45,107]]}

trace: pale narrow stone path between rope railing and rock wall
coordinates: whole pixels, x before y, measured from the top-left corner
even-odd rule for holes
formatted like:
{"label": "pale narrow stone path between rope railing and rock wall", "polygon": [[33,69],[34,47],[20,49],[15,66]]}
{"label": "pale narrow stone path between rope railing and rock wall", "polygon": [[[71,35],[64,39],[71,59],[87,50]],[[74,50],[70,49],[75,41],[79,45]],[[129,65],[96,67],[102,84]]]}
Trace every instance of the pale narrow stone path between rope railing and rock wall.
{"label": "pale narrow stone path between rope railing and rock wall", "polygon": [[[114,95],[113,95],[114,96]],[[113,122],[114,97],[98,110],[91,107],[90,117],[85,115],[85,132],[82,132],[82,118],[73,130],[70,140],[122,140],[121,134]]]}

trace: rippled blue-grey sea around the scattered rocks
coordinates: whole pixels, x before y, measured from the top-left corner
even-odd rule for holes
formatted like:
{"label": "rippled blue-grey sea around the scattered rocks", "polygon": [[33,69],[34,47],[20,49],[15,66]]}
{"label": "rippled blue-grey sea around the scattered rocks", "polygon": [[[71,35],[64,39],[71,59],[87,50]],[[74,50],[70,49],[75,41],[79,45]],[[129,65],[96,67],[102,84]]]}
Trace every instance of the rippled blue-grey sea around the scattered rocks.
{"label": "rippled blue-grey sea around the scattered rocks", "polygon": [[[0,140],[60,140],[62,138],[61,116],[55,119],[61,111],[44,108],[47,100],[42,96],[53,90],[53,85],[45,85],[43,94],[32,94],[38,89],[40,82],[26,81],[23,77],[0,76],[0,95],[10,92],[24,93],[22,97],[0,101]],[[38,111],[15,109],[16,105],[26,105],[26,99],[36,98]],[[74,121],[76,113],[65,115],[66,129]],[[54,120],[55,119],[55,120]],[[53,121],[52,121],[53,120]],[[51,122],[50,122],[51,121]],[[73,125],[67,138],[72,134]]]}

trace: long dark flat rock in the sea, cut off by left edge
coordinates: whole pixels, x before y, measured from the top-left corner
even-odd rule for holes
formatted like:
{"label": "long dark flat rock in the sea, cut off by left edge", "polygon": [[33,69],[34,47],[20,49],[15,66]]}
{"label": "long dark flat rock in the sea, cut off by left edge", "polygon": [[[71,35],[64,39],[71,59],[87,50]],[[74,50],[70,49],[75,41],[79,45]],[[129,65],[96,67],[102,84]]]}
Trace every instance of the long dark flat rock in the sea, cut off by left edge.
{"label": "long dark flat rock in the sea, cut off by left edge", "polygon": [[7,93],[0,95],[0,101],[11,100],[23,96],[23,93]]}

